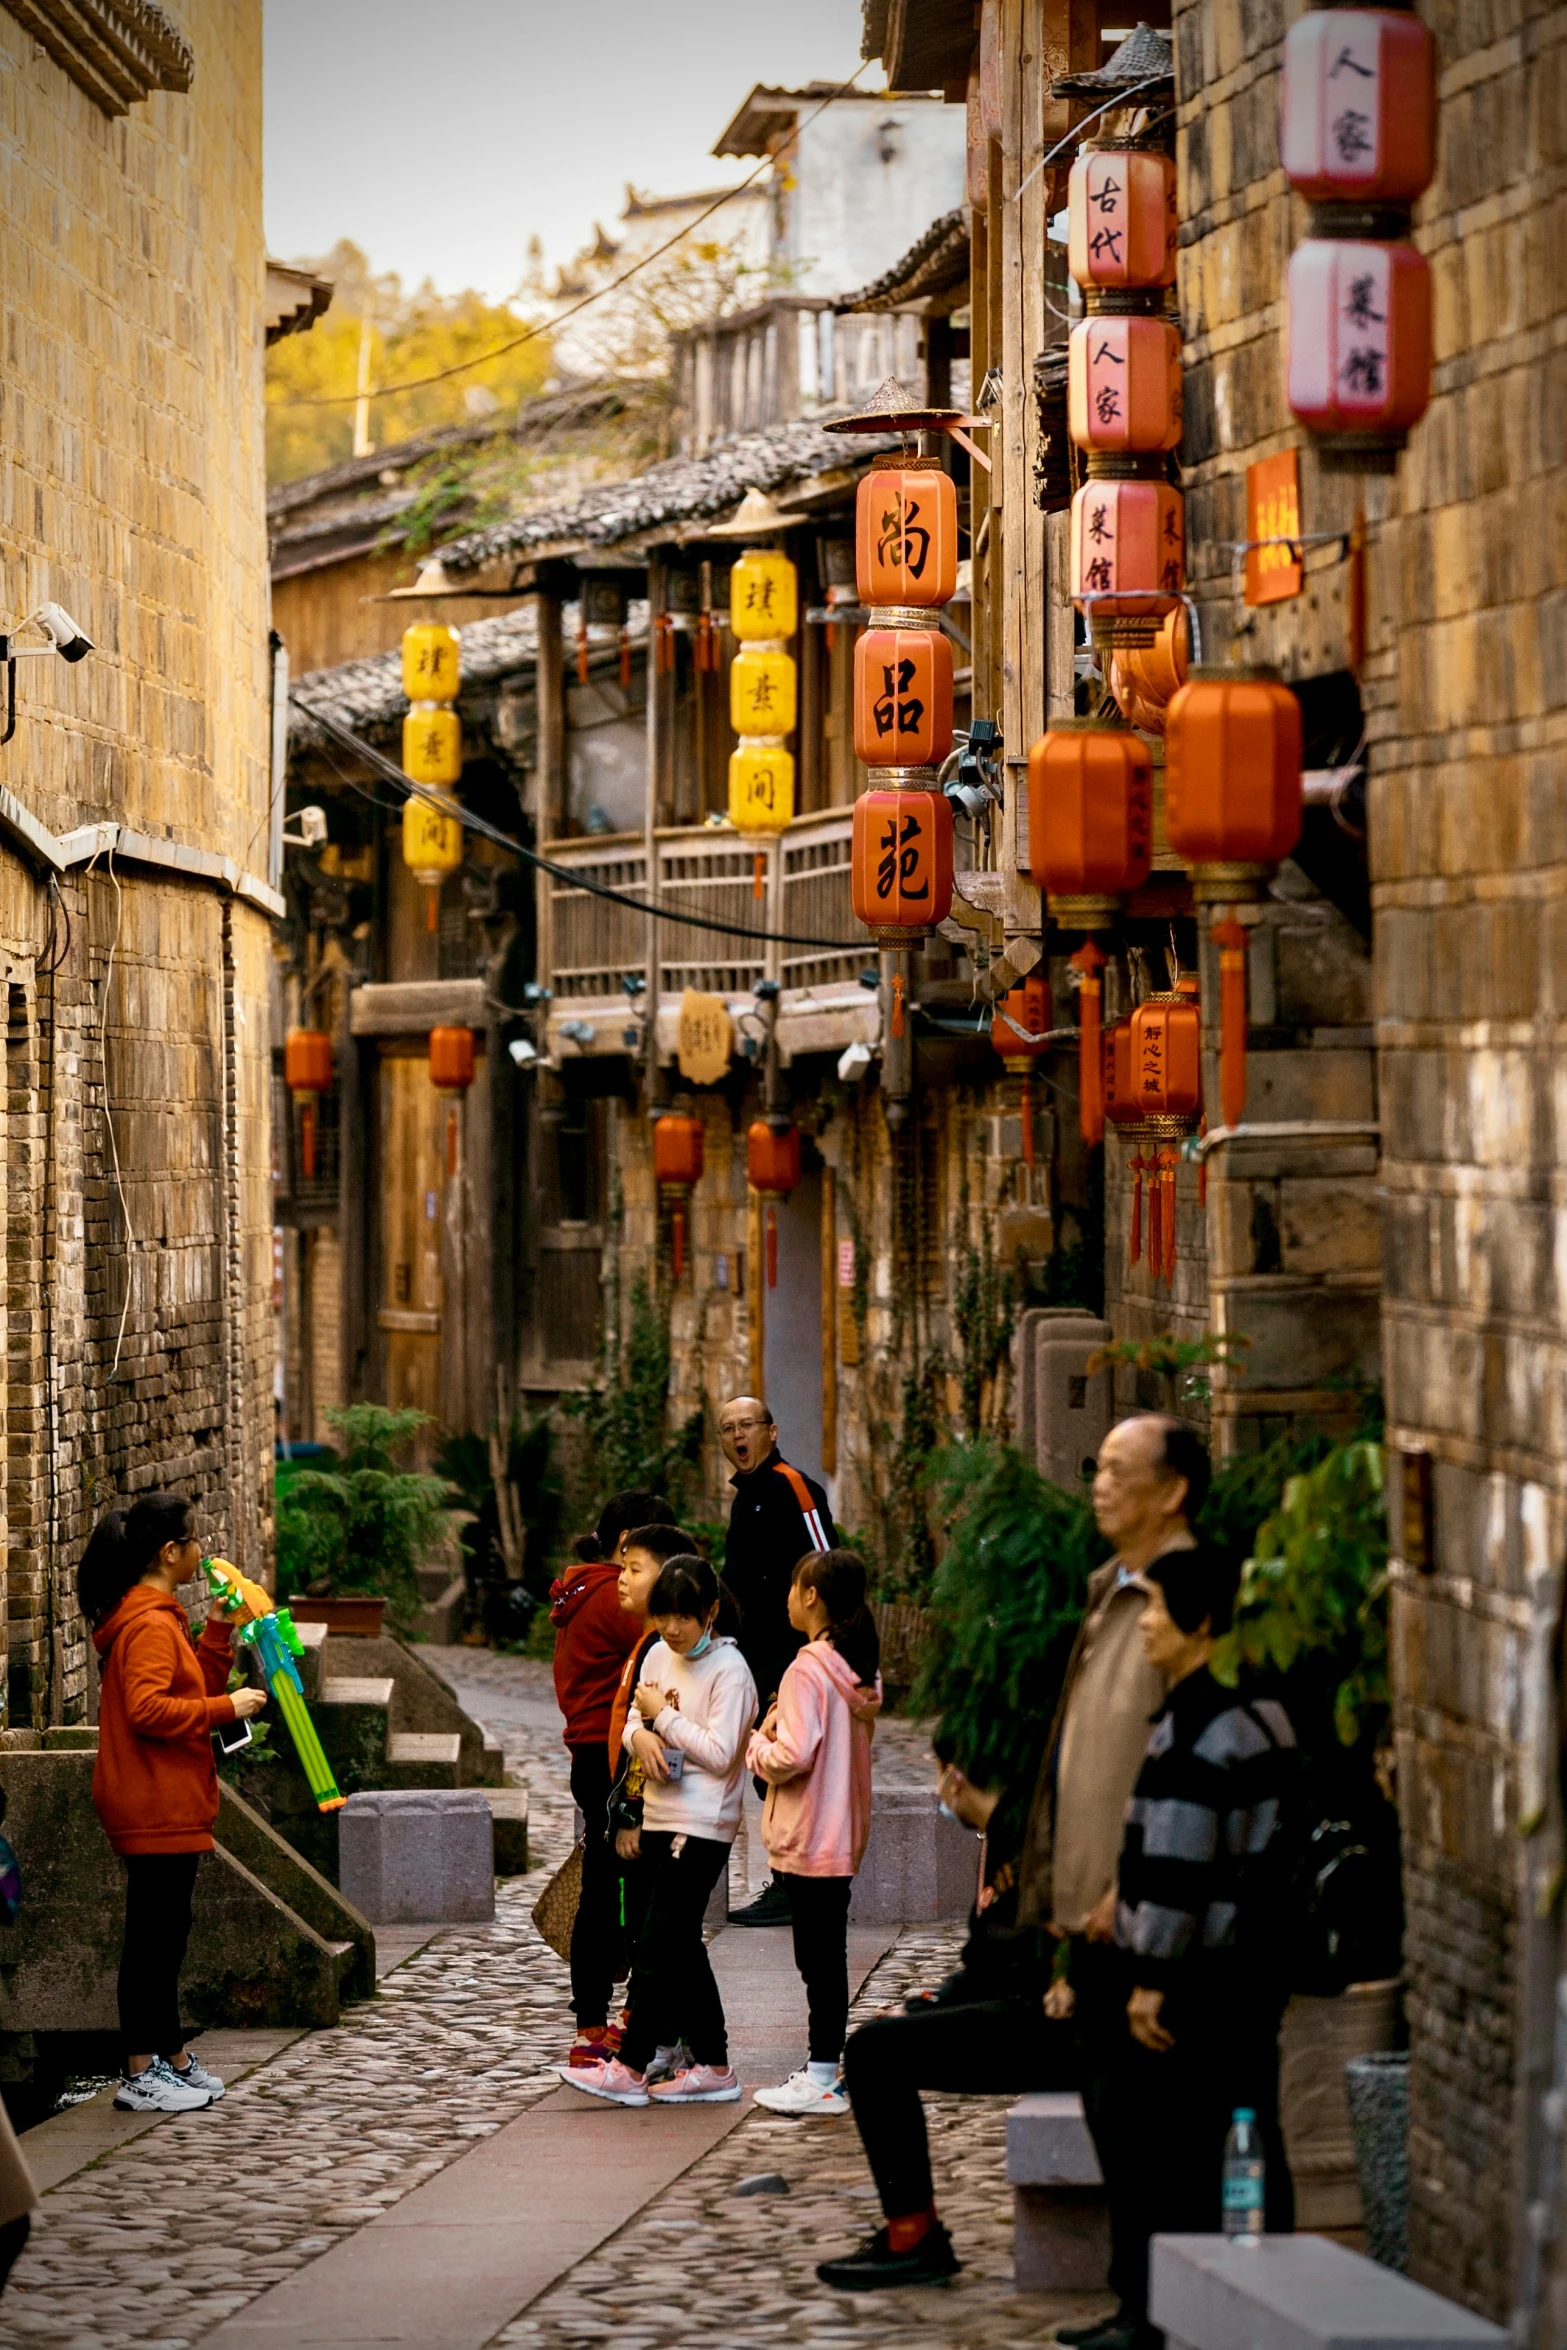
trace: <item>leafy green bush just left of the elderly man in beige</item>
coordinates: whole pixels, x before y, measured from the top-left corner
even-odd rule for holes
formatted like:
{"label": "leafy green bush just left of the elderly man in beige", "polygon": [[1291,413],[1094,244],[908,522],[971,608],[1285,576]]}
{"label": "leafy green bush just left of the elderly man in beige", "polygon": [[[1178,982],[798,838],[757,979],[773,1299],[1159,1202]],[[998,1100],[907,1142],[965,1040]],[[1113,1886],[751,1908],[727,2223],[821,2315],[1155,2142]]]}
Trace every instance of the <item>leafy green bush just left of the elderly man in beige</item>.
{"label": "leafy green bush just left of the elderly man in beige", "polygon": [[944,1445],[926,1480],[944,1544],[930,1586],[935,1638],[909,1704],[942,1716],[973,1779],[1017,1786],[1038,1767],[1107,1544],[1081,1495],[991,1436]]}

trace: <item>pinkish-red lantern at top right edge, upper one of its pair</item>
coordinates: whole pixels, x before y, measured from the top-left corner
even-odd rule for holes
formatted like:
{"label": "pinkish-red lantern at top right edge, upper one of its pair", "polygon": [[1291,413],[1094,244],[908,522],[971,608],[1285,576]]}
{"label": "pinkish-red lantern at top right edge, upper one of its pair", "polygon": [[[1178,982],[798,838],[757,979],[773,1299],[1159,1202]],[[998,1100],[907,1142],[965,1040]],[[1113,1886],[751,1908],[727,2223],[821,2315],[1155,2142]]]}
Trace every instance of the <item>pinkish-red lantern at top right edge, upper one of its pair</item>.
{"label": "pinkish-red lantern at top right edge, upper one of its pair", "polygon": [[1311,9],[1285,33],[1278,160],[1318,204],[1412,204],[1435,172],[1435,42],[1405,9]]}

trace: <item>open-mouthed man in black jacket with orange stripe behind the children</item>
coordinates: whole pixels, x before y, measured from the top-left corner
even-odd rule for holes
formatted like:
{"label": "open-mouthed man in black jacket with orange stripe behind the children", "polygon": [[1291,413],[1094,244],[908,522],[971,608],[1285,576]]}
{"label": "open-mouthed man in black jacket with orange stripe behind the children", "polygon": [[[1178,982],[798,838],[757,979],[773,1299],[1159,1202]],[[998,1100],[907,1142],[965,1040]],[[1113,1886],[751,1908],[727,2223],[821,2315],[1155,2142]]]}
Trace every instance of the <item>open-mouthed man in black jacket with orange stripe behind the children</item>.
{"label": "open-mouthed man in black jacket with orange stripe behind the children", "polygon": [[[827,1495],[778,1450],[778,1426],[759,1396],[731,1396],[719,1412],[719,1443],[735,1471],[735,1502],[724,1544],[724,1582],[740,1607],[740,1654],[752,1668],[761,1713],[778,1697],[785,1666],[803,1633],[789,1624],[789,1584],[806,1551],[839,1539]],[[782,1885],[766,1885],[731,1925],[787,1925]]]}

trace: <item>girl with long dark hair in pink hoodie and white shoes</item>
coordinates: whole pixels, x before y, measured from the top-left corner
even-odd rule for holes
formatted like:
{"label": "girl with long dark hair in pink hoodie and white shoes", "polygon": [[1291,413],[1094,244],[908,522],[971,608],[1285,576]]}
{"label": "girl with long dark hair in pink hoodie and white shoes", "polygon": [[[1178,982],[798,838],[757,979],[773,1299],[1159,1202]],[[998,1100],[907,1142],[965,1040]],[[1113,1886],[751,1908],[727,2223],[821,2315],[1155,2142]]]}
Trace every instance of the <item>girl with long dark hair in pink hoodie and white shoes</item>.
{"label": "girl with long dark hair in pink hoodie and white shoes", "polygon": [[811,2059],[778,2089],[756,2089],[756,2103],[829,2115],[848,2113],[848,1894],[872,1833],[872,1727],[881,1711],[881,1643],[858,1551],[806,1551],[789,1584],[789,1624],[806,1633],[806,1647],[752,1734],[745,1767],[768,1781],[761,1838],[789,1896]]}

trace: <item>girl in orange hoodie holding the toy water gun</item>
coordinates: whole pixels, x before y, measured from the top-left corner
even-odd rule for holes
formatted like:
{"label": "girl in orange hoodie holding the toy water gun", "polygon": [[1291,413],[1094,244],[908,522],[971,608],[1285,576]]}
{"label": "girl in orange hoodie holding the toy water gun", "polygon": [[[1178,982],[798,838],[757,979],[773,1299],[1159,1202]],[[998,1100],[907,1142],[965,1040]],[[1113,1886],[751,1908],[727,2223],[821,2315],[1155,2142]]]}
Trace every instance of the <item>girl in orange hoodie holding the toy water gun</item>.
{"label": "girl in orange hoodie holding the toy water gun", "polygon": [[176,1591],[202,1565],[195,1511],[176,1492],[110,1509],[92,1530],[78,1596],[99,1652],[99,1760],[92,1800],[125,1861],[120,2030],[125,2113],[190,2113],[223,2082],[186,2056],[179,1969],[190,1939],[195,1864],[211,1852],[218,1774],[211,1732],[265,1706],[263,1690],[228,1694],[233,1624],[207,1617],[200,1645]]}

